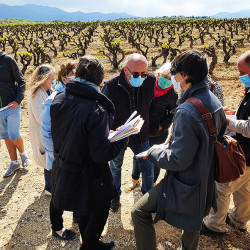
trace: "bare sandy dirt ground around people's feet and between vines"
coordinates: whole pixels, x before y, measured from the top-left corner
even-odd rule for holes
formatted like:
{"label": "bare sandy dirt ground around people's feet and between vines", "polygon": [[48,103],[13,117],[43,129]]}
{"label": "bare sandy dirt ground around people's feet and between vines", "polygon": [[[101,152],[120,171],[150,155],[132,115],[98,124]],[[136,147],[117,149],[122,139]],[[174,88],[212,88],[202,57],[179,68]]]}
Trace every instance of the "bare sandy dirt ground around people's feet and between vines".
{"label": "bare sandy dirt ground around people's feet and between vines", "polygon": [[[96,34],[97,37],[97,34]],[[96,55],[96,49],[101,46],[100,40],[95,39],[87,50],[87,54]],[[185,47],[184,47],[185,48]],[[201,48],[197,45],[195,48]],[[243,87],[238,79],[236,61],[237,57],[250,44],[245,44],[244,48],[238,48],[237,54],[230,59],[229,65],[222,62],[222,51],[218,53],[218,64],[214,71],[214,79],[223,86],[226,105],[236,108],[243,96]],[[8,50],[7,50],[8,51]],[[134,52],[131,47],[126,47],[126,51]],[[152,55],[150,55],[151,58]],[[106,58],[98,56],[105,64],[107,72],[105,79],[119,71],[110,69],[110,64]],[[209,59],[208,59],[209,60]],[[66,58],[53,59],[52,65],[56,69],[67,61]],[[157,63],[161,63],[160,60]],[[155,69],[149,67],[150,72]],[[32,69],[30,70],[30,72]],[[29,72],[25,76],[28,80]],[[76,224],[72,223],[72,213],[64,213],[64,226],[72,228],[77,232],[74,240],[62,242],[51,235],[49,220],[50,198],[44,195],[43,169],[37,166],[33,160],[31,145],[28,133],[28,110],[26,98],[22,107],[21,132],[25,142],[25,148],[31,158],[31,164],[25,169],[21,169],[14,176],[3,178],[2,174],[7,169],[9,157],[2,141],[0,153],[0,249],[78,249],[81,244],[79,230]],[[122,189],[124,190],[131,179],[132,153],[127,150],[122,168]],[[161,172],[161,179],[164,171]],[[130,193],[122,193],[121,209],[118,213],[110,212],[103,240],[114,240],[114,249],[135,249],[135,239],[130,211],[135,201],[141,197],[140,186]],[[233,204],[231,204],[232,207]],[[181,242],[181,230],[173,228],[165,222],[156,224],[158,249],[177,249]],[[248,232],[239,231],[228,227],[229,234],[225,237],[200,237],[199,249],[250,249],[250,224]]]}

